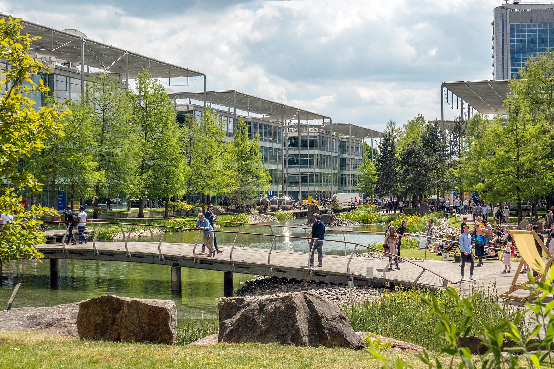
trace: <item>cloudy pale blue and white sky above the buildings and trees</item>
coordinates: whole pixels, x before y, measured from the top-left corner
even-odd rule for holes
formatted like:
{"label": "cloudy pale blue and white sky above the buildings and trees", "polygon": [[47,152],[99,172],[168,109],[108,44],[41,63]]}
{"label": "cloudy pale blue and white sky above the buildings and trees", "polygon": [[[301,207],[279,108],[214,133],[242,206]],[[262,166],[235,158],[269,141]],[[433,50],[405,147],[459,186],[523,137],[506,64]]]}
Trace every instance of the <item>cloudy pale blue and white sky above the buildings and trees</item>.
{"label": "cloudy pale blue and white sky above the buildings and trees", "polygon": [[[492,79],[500,0],[0,0],[0,11],[383,131],[440,118],[440,83]],[[203,90],[202,79],[176,92]],[[183,81],[186,84],[186,81]],[[445,119],[458,111],[445,106]]]}

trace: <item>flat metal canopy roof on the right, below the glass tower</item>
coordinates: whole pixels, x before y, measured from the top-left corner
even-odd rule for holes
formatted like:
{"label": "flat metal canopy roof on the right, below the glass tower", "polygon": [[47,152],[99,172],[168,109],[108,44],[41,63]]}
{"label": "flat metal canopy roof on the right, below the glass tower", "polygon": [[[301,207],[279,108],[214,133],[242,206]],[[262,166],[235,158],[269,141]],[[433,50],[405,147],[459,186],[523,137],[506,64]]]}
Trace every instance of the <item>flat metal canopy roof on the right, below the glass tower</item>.
{"label": "flat metal canopy roof on the right, below the glass tower", "polygon": [[505,114],[502,103],[510,92],[509,80],[444,82],[444,87],[481,114]]}

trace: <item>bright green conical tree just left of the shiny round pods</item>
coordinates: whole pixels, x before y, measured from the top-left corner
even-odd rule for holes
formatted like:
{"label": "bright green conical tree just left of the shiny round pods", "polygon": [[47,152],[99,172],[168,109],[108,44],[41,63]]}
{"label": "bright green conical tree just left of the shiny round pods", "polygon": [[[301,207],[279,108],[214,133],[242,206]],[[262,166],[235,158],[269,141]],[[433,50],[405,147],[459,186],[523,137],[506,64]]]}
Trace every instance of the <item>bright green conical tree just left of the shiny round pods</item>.
{"label": "bright green conical tree just left of the shiny round pods", "polygon": [[248,141],[248,126],[240,118],[234,134],[233,148],[229,150],[229,159],[235,163],[233,190],[228,194],[237,204],[253,205],[260,193],[269,189],[268,169],[261,162],[260,139],[257,133]]}

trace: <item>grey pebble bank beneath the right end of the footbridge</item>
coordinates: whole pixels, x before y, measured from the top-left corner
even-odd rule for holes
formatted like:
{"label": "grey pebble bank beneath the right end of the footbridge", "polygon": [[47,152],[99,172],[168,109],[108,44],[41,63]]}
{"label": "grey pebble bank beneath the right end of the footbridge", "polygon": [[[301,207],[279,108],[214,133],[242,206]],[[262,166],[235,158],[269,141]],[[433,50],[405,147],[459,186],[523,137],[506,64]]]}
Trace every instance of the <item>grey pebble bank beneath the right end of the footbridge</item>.
{"label": "grey pebble bank beneath the right end of the footbridge", "polygon": [[276,277],[258,277],[244,282],[244,286],[235,293],[240,297],[266,298],[280,296],[290,292],[312,291],[322,297],[333,300],[338,306],[353,302],[364,302],[379,298],[388,289],[370,287],[354,287],[348,289],[344,284],[306,282],[305,280]]}

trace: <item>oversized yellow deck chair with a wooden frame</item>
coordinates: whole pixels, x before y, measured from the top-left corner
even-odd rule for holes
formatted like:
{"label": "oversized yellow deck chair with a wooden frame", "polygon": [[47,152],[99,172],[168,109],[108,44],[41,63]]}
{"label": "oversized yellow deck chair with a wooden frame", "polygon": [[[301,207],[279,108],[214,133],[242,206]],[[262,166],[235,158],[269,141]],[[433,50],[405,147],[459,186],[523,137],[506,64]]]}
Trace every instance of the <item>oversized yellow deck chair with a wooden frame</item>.
{"label": "oversized yellow deck chair with a wooden frame", "polygon": [[[535,231],[509,230],[509,232],[510,236],[512,236],[512,239],[517,246],[517,250],[521,254],[521,261],[519,266],[517,267],[514,279],[512,280],[512,283],[510,285],[510,289],[507,290],[505,293],[500,294],[500,297],[516,300],[519,302],[525,302],[526,300],[535,297],[536,294],[530,292],[529,295],[523,297],[512,295],[512,293],[514,293],[518,289],[526,289],[525,287],[531,282],[530,279],[527,279],[524,283],[517,284],[517,278],[519,278],[520,276],[524,260],[527,262],[527,264],[529,264],[529,266],[531,266],[531,268],[533,268],[534,271],[538,273],[538,276],[536,276],[534,279],[540,280],[540,282],[545,282],[546,275],[550,270],[550,267],[552,266],[553,258],[552,254],[548,252],[545,244],[541,241],[540,238],[538,238],[538,235]],[[542,261],[541,256],[538,254],[537,248],[535,246],[535,240],[537,240],[538,244],[542,248],[542,251],[546,254],[546,264]]]}

